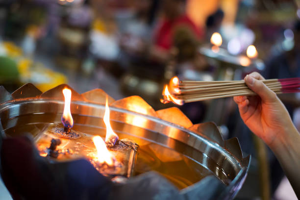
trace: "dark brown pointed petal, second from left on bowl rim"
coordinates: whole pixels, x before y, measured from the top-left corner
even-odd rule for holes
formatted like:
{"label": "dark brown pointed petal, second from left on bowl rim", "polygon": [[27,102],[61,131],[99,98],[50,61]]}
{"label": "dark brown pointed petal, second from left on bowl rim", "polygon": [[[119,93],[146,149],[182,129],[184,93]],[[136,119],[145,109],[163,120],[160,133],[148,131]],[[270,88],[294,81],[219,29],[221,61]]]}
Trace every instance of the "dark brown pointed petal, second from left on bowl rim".
{"label": "dark brown pointed petal, second from left on bowl rim", "polygon": [[35,98],[41,95],[42,92],[37,89],[32,83],[27,83],[11,94],[13,99]]}

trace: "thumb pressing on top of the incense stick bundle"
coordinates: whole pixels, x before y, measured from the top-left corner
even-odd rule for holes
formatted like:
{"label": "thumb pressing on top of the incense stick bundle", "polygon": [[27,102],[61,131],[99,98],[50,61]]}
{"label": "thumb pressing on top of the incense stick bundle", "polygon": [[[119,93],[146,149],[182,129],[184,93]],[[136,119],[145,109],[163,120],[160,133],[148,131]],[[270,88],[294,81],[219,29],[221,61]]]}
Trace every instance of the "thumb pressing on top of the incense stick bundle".
{"label": "thumb pressing on top of the incense stick bundle", "polygon": [[265,102],[275,101],[276,94],[270,90],[261,80],[253,78],[251,75],[245,77],[245,83],[255,92],[261,100]]}

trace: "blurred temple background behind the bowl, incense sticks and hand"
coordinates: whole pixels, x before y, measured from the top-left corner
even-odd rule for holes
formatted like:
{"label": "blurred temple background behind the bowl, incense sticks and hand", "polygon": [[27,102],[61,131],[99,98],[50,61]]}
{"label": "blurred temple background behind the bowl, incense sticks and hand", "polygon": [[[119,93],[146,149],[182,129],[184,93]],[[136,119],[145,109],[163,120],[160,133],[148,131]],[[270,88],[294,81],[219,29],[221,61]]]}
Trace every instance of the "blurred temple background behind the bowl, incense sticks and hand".
{"label": "blurred temple background behind the bowl, incense sticks and hand", "polygon": [[[300,77],[299,0],[0,0],[0,85],[42,92],[67,83],[155,110],[163,85],[184,80]],[[300,129],[300,97],[281,95]],[[179,108],[215,122],[252,154],[237,200],[297,200],[273,153],[243,124],[232,98]],[[0,199],[11,199],[0,186]]]}

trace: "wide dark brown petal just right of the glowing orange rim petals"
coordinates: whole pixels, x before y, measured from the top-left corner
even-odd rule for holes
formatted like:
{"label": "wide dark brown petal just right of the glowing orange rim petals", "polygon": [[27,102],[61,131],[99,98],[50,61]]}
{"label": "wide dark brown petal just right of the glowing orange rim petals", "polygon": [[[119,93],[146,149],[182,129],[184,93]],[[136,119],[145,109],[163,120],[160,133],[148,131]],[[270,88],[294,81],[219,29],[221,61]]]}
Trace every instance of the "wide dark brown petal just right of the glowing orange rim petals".
{"label": "wide dark brown petal just right of the glowing orange rim petals", "polygon": [[221,147],[224,147],[223,137],[217,127],[213,122],[206,122],[201,124],[196,124],[189,127],[190,130],[205,135],[212,141],[218,143]]}

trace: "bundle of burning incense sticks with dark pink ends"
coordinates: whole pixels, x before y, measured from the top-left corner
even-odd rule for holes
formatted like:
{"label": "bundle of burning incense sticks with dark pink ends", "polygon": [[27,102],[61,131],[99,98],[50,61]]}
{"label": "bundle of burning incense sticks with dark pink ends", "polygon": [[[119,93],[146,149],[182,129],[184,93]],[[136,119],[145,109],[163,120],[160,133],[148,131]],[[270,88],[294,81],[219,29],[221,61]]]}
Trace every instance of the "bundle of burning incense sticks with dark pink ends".
{"label": "bundle of burning incense sticks with dark pink ends", "polygon": [[[300,77],[262,80],[276,94],[300,92]],[[212,100],[234,96],[256,95],[244,80],[238,81],[179,81],[175,76],[163,91],[163,103]]]}

